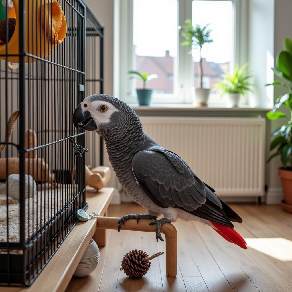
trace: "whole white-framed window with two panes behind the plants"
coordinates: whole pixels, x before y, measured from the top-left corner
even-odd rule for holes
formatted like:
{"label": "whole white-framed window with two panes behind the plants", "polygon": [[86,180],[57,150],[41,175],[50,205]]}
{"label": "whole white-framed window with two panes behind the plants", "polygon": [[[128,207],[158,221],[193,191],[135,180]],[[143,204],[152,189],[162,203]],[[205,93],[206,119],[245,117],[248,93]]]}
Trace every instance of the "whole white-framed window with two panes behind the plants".
{"label": "whole white-framed window with two panes behind the plants", "polygon": [[[240,1],[121,1],[120,96],[137,104],[136,88],[141,88],[142,83],[130,80],[126,74],[134,69],[158,75],[147,85],[154,92],[153,104],[192,102],[191,88],[198,86],[199,52],[180,45],[183,41],[180,31],[188,18],[193,25],[209,24],[211,29],[213,42],[202,49],[202,67],[203,86],[212,89],[224,71],[232,71],[239,62],[239,4],[243,3]],[[210,101],[224,102],[215,91],[211,91]]]}

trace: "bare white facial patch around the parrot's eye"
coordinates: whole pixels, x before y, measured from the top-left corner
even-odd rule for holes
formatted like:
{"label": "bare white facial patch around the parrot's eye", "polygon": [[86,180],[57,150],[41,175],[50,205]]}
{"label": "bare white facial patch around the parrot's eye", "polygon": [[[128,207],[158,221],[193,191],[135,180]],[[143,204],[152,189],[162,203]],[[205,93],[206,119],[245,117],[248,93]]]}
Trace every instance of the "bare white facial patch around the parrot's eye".
{"label": "bare white facial patch around the parrot's eye", "polygon": [[[102,111],[101,107],[105,106],[106,111]],[[95,100],[90,101],[85,98],[83,102],[81,102],[81,107],[84,111],[88,110],[93,117],[93,120],[97,126],[99,127],[100,124],[106,124],[109,122],[110,117],[114,112],[119,112],[119,110],[114,107],[111,103],[102,100]],[[104,109],[104,107],[102,107]]]}

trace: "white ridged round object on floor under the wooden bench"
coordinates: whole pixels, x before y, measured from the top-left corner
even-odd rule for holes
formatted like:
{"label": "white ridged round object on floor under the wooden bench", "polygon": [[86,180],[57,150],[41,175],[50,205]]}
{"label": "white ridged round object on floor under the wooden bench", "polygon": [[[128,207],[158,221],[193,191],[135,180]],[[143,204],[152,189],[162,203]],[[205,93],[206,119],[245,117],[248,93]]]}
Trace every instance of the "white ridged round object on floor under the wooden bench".
{"label": "white ridged round object on floor under the wooden bench", "polygon": [[74,276],[85,277],[92,273],[99,261],[99,249],[96,242],[91,239],[80,262],[77,266]]}

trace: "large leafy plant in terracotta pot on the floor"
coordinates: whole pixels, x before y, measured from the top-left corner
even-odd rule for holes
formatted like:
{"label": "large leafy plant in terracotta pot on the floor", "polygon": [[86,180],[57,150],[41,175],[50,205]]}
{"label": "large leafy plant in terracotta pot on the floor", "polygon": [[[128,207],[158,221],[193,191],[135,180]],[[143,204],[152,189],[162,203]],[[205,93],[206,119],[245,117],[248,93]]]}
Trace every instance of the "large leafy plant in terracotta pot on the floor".
{"label": "large leafy plant in terracotta pot on the floor", "polygon": [[[280,118],[287,119],[286,125],[281,126],[272,133],[275,137],[270,145],[270,150],[276,149],[269,162],[273,157],[280,155],[282,167],[279,168],[279,176],[282,181],[284,200],[282,206],[286,211],[292,212],[292,39],[286,38],[284,41],[284,51],[277,55],[277,67],[273,67],[274,73],[281,77],[282,81],[274,81],[273,86],[281,86],[287,91],[279,96],[276,100],[272,111],[267,113],[267,118],[276,120]],[[283,105],[288,107],[289,115],[279,111],[279,107]]]}

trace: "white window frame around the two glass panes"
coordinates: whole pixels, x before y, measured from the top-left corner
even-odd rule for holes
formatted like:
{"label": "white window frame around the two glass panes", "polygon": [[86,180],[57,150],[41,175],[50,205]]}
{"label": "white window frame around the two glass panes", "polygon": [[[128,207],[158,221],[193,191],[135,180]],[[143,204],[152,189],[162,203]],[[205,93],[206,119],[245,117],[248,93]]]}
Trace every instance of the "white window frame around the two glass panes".
{"label": "white window frame around the two glass panes", "polygon": [[[190,104],[192,103],[192,55],[190,48],[180,46],[183,41],[179,29],[185,19],[192,19],[192,1],[178,0],[178,55],[174,63],[174,93],[154,93],[152,104]],[[247,62],[247,1],[246,0],[211,0],[233,1],[234,5],[234,64],[243,65]],[[129,79],[127,72],[135,68],[133,44],[133,0],[119,1],[119,97],[128,104],[136,105],[135,83]],[[115,26],[117,27],[117,26]],[[220,102],[219,102],[220,103]]]}

